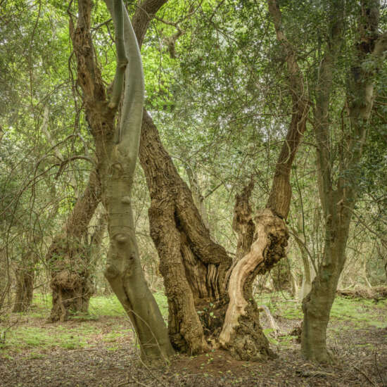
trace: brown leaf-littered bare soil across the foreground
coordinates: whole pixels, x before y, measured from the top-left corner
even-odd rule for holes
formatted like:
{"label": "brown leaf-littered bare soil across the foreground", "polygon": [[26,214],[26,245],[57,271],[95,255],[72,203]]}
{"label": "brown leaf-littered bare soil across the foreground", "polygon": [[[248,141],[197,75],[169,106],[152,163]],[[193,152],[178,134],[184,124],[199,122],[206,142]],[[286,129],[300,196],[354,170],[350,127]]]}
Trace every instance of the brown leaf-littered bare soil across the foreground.
{"label": "brown leaf-littered bare soil across the foreground", "polygon": [[[121,319],[125,326],[126,320]],[[282,332],[300,320],[277,321]],[[120,319],[106,317],[96,324],[107,334]],[[31,323],[31,321],[30,321]],[[37,324],[37,322],[34,322]],[[74,329],[79,322],[66,322]],[[84,324],[84,323],[82,323]],[[62,324],[63,326],[63,324]],[[42,326],[43,329],[43,326]],[[119,386],[387,386],[387,329],[332,322],[328,345],[334,365],[318,367],[300,357],[296,338],[274,341],[278,357],[265,363],[241,362],[215,350],[205,355],[179,355],[168,367],[141,364],[134,338],[92,336],[90,348],[25,348],[0,355],[1,387],[119,387]],[[277,343],[277,344],[276,344]]]}

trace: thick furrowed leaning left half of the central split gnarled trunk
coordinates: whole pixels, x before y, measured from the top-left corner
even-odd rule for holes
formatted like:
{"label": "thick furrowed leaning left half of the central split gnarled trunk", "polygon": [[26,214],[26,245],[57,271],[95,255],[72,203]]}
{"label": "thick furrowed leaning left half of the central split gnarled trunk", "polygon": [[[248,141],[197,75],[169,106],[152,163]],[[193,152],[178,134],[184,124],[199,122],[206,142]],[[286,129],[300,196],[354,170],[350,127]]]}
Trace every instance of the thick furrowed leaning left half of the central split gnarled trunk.
{"label": "thick furrowed leaning left half of the central split gnarled trunk", "polygon": [[[201,353],[209,348],[205,338],[218,334],[214,328],[219,328],[222,313],[217,320],[209,319],[208,313],[224,307],[224,277],[231,259],[210,239],[191,191],[179,177],[146,110],[139,158],[151,194],[151,237],[168,298],[170,338],[179,350]],[[214,305],[211,310],[209,303]]]}

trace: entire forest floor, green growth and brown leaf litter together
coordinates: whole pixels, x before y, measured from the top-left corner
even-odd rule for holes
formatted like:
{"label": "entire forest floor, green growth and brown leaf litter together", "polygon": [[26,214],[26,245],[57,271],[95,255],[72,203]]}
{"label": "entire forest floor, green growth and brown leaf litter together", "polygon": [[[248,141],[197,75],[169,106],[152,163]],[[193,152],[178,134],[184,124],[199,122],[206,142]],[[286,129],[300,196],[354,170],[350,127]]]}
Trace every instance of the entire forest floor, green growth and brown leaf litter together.
{"label": "entire forest floor, green growth and brown leaf litter together", "polygon": [[[165,296],[156,299],[167,314]],[[169,366],[141,364],[125,313],[114,297],[91,299],[90,315],[47,323],[49,299],[37,295],[24,315],[0,316],[1,387],[119,386],[381,386],[387,387],[387,300],[337,298],[331,313],[328,345],[335,362],[318,367],[300,356],[291,335],[302,319],[300,303],[284,294],[258,297],[281,329],[272,337],[277,358],[240,362],[220,350],[177,356]],[[4,336],[5,332],[5,336]]]}

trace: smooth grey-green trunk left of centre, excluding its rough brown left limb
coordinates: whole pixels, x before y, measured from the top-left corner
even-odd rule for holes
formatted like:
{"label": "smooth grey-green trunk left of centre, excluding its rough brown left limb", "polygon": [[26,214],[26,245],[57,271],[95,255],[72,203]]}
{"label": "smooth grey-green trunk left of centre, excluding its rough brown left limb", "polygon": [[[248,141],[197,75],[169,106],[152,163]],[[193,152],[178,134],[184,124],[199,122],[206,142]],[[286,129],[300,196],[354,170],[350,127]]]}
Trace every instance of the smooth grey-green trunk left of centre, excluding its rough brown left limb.
{"label": "smooth grey-green trunk left of centre, excluding its rough brown left limb", "polygon": [[[121,94],[118,74],[125,70],[125,90],[118,144],[106,147],[108,173],[103,175],[103,203],[108,214],[110,248],[105,276],[137,331],[141,357],[148,362],[166,361],[173,350],[167,328],[153,294],[148,288],[137,247],[131,191],[139,151],[144,105],[144,74],[137,38],[121,0],[106,4],[115,23],[118,68],[109,107]],[[126,58],[126,55],[128,58]],[[127,65],[126,65],[127,63]],[[115,94],[116,93],[116,94]]]}

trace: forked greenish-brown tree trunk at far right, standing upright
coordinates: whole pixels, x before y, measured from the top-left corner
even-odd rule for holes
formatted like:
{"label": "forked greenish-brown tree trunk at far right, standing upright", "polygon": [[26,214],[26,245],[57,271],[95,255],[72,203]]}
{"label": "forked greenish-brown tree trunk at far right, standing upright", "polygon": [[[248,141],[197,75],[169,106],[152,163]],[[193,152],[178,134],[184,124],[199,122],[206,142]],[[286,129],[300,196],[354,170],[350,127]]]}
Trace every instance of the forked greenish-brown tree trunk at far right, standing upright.
{"label": "forked greenish-brown tree trunk at far right, standing upright", "polygon": [[[367,135],[368,121],[374,101],[374,68],[363,61],[380,61],[387,49],[387,34],[379,35],[379,1],[362,1],[358,20],[357,44],[348,80],[348,128],[341,147],[339,174],[334,186],[329,148],[329,103],[332,91],[335,59],[341,44],[343,8],[340,1],[331,4],[331,40],[327,44],[316,89],[315,137],[317,139],[317,166],[320,197],[325,215],[325,246],[322,265],[312,282],[312,290],[303,300],[303,355],[308,360],[329,362],[326,349],[326,326],[334,302],[338,279],[345,263],[345,246],[358,186],[357,163]],[[338,7],[339,6],[339,7]],[[348,171],[351,172],[348,179]],[[355,183],[354,183],[355,182]]]}

